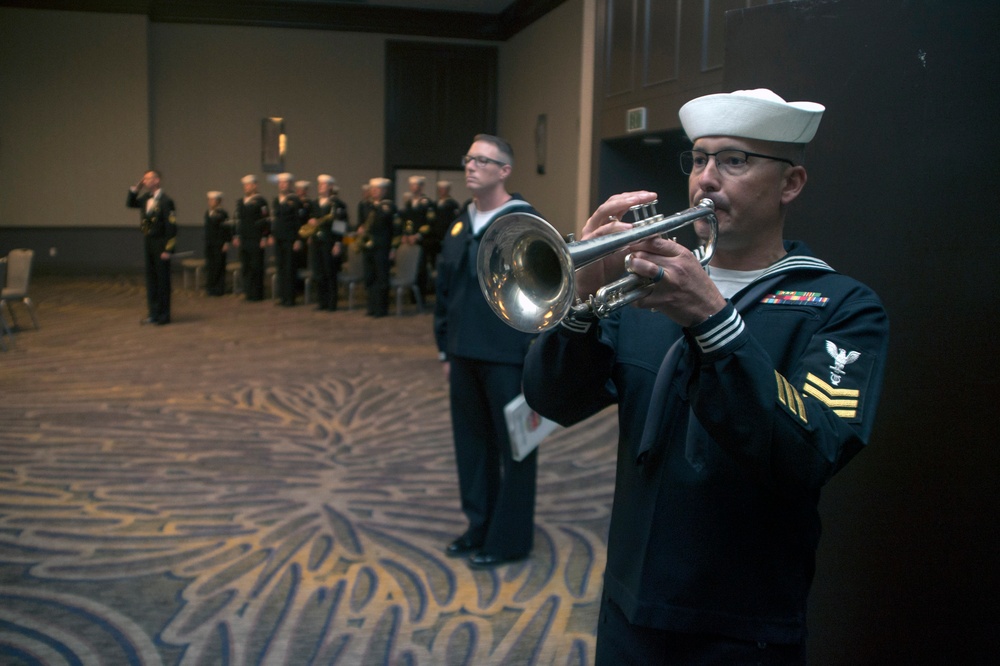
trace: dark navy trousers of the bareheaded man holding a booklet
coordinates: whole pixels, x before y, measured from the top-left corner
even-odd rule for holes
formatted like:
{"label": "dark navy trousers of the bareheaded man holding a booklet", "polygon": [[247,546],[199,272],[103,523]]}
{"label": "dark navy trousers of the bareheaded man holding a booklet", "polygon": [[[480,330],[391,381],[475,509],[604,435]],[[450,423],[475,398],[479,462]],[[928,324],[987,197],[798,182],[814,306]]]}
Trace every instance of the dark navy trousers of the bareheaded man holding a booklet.
{"label": "dark navy trousers of the bareheaded man holding a booklet", "polygon": [[538,452],[511,456],[503,408],[521,392],[519,365],[452,358],[451,421],[462,511],[483,552],[517,557],[534,541]]}

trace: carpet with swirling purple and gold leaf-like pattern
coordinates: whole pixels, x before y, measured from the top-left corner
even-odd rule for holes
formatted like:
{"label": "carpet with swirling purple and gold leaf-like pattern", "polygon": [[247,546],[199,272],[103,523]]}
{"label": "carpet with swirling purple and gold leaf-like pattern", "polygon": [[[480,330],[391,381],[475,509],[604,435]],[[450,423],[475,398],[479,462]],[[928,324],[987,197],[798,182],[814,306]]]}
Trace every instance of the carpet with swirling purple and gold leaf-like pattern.
{"label": "carpet with swirling purple and gold leaf-like pattern", "polygon": [[429,314],[178,279],[140,326],[139,282],[36,278],[0,351],[0,663],[592,661],[613,411],[542,444],[531,558],[473,571]]}

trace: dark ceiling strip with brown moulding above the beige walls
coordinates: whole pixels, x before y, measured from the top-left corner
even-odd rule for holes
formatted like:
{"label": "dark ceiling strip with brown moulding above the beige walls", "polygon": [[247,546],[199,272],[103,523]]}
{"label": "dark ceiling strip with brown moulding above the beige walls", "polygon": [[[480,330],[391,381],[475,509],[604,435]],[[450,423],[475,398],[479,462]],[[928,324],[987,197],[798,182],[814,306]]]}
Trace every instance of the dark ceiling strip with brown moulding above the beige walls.
{"label": "dark ceiling strip with brown moulding above the beige walls", "polygon": [[162,23],[504,41],[565,0],[0,0],[0,6],[145,14]]}

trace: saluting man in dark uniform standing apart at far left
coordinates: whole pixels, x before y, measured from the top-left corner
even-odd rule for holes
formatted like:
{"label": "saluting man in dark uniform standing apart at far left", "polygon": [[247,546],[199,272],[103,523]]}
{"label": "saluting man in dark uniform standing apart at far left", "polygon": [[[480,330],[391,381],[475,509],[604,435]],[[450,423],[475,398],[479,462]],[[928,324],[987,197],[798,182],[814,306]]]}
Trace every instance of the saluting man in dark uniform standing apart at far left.
{"label": "saluting man in dark uniform standing apart at far left", "polygon": [[[140,194],[140,191],[146,191]],[[160,173],[149,170],[129,188],[125,205],[141,211],[143,261],[146,267],[146,304],[149,315],[143,324],[170,323],[170,257],[177,242],[174,201],[160,187]]]}

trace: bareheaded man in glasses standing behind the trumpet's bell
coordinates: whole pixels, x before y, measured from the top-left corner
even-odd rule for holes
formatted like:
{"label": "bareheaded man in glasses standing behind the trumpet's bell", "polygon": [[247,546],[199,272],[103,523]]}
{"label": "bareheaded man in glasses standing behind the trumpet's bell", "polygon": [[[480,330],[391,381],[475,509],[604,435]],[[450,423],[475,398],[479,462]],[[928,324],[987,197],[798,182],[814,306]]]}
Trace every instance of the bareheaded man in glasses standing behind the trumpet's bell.
{"label": "bareheaded man in glasses standing behind the trumpet's bell", "polygon": [[524,355],[533,335],[504,324],[479,288],[476,255],[501,215],[534,208],[507,192],[514,152],[479,134],[462,158],[472,203],[445,232],[438,259],[434,336],[451,395],[452,431],[462,511],[468,528],[445,548],[473,568],[524,559],[534,539],[537,451],[514,460],[504,406],[521,393]]}

